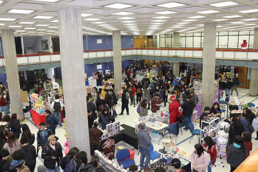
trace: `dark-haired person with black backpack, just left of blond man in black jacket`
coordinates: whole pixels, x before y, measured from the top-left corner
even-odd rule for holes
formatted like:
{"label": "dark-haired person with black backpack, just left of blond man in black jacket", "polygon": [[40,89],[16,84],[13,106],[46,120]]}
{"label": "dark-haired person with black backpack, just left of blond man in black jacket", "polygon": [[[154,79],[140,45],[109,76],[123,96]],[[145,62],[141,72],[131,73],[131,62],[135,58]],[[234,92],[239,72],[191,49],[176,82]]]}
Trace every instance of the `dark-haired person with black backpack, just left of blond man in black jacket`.
{"label": "dark-haired person with black backpack, just left of blond man in black jacket", "polygon": [[25,160],[25,165],[29,167],[31,172],[34,172],[36,167],[36,148],[33,145],[29,145],[30,138],[27,135],[21,137],[20,143],[22,147],[20,151],[23,153],[23,159]]}

